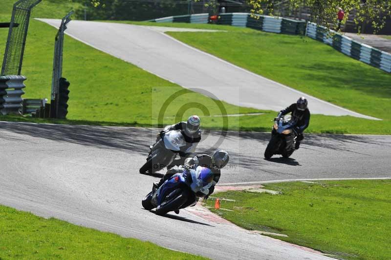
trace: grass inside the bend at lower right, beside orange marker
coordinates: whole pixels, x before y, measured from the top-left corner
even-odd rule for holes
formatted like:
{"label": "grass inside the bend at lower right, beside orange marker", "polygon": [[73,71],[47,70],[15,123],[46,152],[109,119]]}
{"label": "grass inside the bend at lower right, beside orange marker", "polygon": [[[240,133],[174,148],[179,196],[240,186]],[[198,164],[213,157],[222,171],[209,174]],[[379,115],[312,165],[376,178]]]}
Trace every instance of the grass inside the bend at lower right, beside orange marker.
{"label": "grass inside the bend at lower right, beside orange marker", "polygon": [[214,196],[236,202],[220,204],[233,211],[212,211],[247,229],[270,227],[291,243],[358,256],[354,259],[390,259],[391,180],[286,182],[265,189],[282,195],[218,193]]}

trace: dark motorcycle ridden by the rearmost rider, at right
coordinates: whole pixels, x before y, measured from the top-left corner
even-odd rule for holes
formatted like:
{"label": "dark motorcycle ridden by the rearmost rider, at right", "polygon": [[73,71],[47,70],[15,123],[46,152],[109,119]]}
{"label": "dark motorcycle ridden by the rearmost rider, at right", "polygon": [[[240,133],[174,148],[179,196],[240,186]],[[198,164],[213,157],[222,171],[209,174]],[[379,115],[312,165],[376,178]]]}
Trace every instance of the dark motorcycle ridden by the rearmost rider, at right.
{"label": "dark motorcycle ridden by the rearmost rider, at right", "polygon": [[296,121],[291,120],[290,115],[274,119],[272,136],[265,150],[265,159],[270,159],[273,154],[281,154],[288,158],[295,151],[297,132]]}

